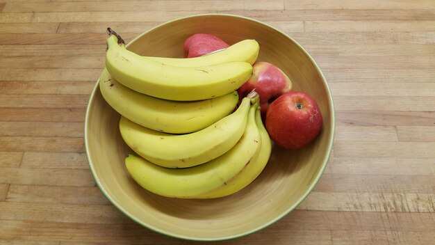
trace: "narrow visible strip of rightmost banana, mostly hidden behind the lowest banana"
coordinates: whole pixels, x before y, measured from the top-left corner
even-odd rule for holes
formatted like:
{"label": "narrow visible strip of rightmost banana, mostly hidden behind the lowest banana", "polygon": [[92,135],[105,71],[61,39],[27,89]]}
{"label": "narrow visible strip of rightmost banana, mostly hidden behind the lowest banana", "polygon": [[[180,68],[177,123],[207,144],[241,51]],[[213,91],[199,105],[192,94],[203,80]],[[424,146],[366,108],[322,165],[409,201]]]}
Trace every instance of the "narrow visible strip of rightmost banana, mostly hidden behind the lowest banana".
{"label": "narrow visible strip of rightmost banana, mostly hidden behind the lowest banana", "polygon": [[272,143],[268,131],[265,129],[263,122],[261,121],[261,112],[259,108],[256,111],[256,125],[261,135],[261,146],[258,153],[256,153],[252,158],[252,161],[243,168],[243,171],[229,180],[227,184],[222,184],[217,189],[196,196],[196,198],[220,198],[223,196],[229,196],[247,187],[248,184],[252,183],[256,177],[260,175],[266,164],[268,164],[270,152],[272,152]]}

